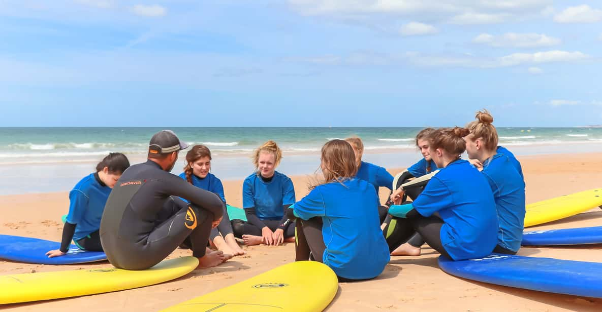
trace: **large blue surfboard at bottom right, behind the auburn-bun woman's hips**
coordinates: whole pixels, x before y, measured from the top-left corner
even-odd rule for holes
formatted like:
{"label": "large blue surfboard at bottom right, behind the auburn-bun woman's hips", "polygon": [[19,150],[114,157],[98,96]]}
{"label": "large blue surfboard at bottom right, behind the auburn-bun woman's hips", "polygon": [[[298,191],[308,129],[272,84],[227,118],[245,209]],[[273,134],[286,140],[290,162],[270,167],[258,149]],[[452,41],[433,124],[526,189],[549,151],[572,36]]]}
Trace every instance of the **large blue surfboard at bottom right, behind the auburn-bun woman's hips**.
{"label": "large blue surfboard at bottom right, behind the auburn-bun woman's hips", "polygon": [[491,254],[453,261],[439,256],[447,274],[541,292],[602,298],[602,263]]}

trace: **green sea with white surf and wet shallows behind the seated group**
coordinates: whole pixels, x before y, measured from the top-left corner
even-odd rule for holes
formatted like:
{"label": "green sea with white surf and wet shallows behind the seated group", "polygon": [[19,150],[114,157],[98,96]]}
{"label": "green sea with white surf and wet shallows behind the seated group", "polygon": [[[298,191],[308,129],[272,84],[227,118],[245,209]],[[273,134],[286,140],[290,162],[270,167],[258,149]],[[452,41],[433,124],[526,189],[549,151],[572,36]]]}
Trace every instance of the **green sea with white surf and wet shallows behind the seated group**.
{"label": "green sea with white surf and wet shallows behind the seated group", "polygon": [[[279,171],[313,173],[327,140],[359,136],[364,159],[385,167],[406,167],[420,159],[414,137],[421,128],[170,128],[181,140],[205,144],[212,172],[241,179],[253,172],[250,155],[266,140],[284,154]],[[152,134],[161,128],[0,128],[0,194],[67,191],[93,172],[109,152],[123,152],[132,164],[144,161]],[[498,128],[500,145],[518,155],[602,151],[602,128]],[[173,173],[181,172],[184,153]]]}

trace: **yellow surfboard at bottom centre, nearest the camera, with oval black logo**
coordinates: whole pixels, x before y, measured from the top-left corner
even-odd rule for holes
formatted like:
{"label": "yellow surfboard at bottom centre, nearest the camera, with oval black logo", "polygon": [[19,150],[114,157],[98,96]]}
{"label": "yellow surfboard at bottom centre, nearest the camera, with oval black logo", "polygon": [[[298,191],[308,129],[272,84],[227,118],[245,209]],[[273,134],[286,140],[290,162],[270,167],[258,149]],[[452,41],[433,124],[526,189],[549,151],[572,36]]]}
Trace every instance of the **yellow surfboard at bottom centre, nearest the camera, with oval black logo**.
{"label": "yellow surfboard at bottom centre, nearest the camera, with oval black logo", "polygon": [[299,261],[163,311],[317,312],[330,304],[337,290],[332,269],[320,262]]}

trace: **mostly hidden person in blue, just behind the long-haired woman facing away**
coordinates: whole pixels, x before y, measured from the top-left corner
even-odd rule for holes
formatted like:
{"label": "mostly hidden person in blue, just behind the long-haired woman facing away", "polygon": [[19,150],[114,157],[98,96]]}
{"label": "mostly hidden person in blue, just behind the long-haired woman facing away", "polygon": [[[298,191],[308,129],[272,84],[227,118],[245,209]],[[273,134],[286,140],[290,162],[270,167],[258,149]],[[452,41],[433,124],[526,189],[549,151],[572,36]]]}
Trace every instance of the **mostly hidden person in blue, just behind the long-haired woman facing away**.
{"label": "mostly hidden person in blue, just behind the long-haired woman facing away", "polygon": [[[391,173],[387,172],[383,167],[362,161],[362,155],[364,155],[364,143],[362,143],[362,139],[359,137],[348,137],[345,140],[349,142],[355,153],[355,163],[358,166],[358,175],[356,177],[373,185],[377,196],[379,187],[386,187],[391,190],[393,187],[393,176]],[[379,205],[380,223],[385,221],[388,209],[387,206]]]}

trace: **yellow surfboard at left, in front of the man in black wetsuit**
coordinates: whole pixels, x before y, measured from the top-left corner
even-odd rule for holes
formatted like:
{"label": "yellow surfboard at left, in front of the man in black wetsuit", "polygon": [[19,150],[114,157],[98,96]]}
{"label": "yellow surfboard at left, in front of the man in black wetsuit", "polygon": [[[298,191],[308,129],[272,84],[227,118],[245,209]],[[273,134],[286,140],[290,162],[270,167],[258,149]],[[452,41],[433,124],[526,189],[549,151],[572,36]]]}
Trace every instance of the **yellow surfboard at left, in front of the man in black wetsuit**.
{"label": "yellow surfboard at left, in front of the man in black wetsuit", "polygon": [[150,269],[116,268],[40,272],[0,276],[0,304],[13,304],[144,287],[173,280],[193,271],[196,257],[163,260]]}

